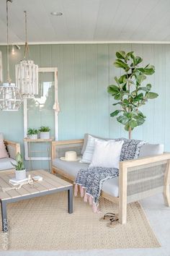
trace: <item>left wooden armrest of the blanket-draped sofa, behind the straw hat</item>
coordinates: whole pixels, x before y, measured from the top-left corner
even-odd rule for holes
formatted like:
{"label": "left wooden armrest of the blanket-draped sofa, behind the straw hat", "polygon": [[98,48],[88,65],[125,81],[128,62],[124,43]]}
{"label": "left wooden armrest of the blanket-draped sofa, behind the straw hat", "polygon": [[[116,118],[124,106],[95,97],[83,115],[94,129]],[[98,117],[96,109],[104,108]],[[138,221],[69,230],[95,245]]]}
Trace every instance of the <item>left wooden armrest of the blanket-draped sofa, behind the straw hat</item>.
{"label": "left wooden armrest of the blanket-draped sofa, behind the straw hat", "polygon": [[65,155],[66,151],[74,150],[78,155],[81,154],[84,140],[58,140],[52,142],[52,159]]}

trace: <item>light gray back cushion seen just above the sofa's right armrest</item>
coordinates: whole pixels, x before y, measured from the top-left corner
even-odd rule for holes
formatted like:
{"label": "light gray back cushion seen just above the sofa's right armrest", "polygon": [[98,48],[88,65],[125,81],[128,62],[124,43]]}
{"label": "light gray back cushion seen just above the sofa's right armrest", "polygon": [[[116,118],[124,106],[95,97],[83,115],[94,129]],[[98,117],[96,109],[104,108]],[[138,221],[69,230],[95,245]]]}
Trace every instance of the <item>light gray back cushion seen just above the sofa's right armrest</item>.
{"label": "light gray back cushion seen just above the sofa's right armrest", "polygon": [[140,148],[139,158],[164,153],[163,144],[145,144]]}

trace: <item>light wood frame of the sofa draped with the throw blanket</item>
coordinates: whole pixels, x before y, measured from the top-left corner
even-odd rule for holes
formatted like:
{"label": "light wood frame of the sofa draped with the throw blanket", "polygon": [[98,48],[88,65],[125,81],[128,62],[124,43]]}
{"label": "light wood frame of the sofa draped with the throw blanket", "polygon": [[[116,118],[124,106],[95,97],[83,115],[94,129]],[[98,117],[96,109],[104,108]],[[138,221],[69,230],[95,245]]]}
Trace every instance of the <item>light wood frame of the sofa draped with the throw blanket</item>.
{"label": "light wood frame of the sofa draped with the throw blanket", "polygon": [[[56,158],[56,148],[58,146],[64,145],[83,145],[84,140],[63,140],[52,142],[52,161]],[[160,171],[159,169],[163,167],[165,171]],[[141,170],[145,172],[144,177],[141,177]],[[148,171],[147,171],[148,170]],[[148,177],[148,172],[151,171],[150,177]],[[134,172],[134,174],[133,174]],[[68,175],[64,170],[56,168],[52,163],[52,173],[59,174],[66,177],[67,179],[74,181],[74,177]],[[130,173],[133,180],[130,183]],[[134,180],[134,176],[136,177]],[[131,177],[131,178],[132,178]],[[139,182],[140,180],[140,182]],[[160,185],[157,187],[151,187],[150,183],[157,182]],[[161,182],[162,181],[162,182]],[[149,184],[148,184],[149,183]],[[156,183],[156,184],[157,184]],[[169,195],[169,184],[170,184],[170,153],[164,153],[161,155],[151,156],[147,158],[138,158],[130,161],[120,162],[120,172],[119,172],[119,197],[114,197],[106,192],[102,191],[101,196],[115,202],[119,205],[119,222],[125,224],[127,221],[127,204],[129,202],[135,202],[141,200],[145,197],[155,195],[162,192],[164,195],[164,202],[166,206],[170,206],[170,195]],[[135,192],[133,195],[128,195],[128,190],[137,185],[141,187],[141,192]],[[148,189],[145,186],[149,186]],[[132,192],[131,192],[132,193]]]}

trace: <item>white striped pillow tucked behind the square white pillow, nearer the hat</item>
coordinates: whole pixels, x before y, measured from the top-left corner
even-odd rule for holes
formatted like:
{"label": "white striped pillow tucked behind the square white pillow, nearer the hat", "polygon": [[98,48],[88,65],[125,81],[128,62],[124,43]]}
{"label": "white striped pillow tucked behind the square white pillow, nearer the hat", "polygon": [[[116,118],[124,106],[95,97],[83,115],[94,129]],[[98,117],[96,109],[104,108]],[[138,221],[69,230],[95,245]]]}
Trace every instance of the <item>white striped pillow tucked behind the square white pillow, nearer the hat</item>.
{"label": "white striped pillow tucked behind the square white pillow, nearer the hat", "polygon": [[91,163],[93,153],[94,153],[95,140],[97,139],[92,137],[91,135],[88,135],[86,150],[84,151],[84,154],[80,161],[81,163]]}

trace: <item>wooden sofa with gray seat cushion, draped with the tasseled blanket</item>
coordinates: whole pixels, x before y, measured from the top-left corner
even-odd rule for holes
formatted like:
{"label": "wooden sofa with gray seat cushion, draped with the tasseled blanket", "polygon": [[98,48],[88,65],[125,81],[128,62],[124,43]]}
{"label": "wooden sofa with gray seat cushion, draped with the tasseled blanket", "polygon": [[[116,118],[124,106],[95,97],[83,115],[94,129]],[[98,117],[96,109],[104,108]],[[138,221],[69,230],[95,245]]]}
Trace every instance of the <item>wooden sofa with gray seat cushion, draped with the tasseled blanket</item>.
{"label": "wooden sofa with gray seat cushion, draped with the tasseled blanket", "polygon": [[[89,164],[61,161],[60,157],[68,150],[75,150],[81,155],[83,144],[84,140],[52,142],[52,173],[73,182],[79,169],[88,167]],[[169,184],[170,153],[161,153],[120,162],[119,177],[104,182],[101,196],[119,205],[119,222],[123,224],[127,221],[129,202],[161,192],[166,206],[170,206]]]}

